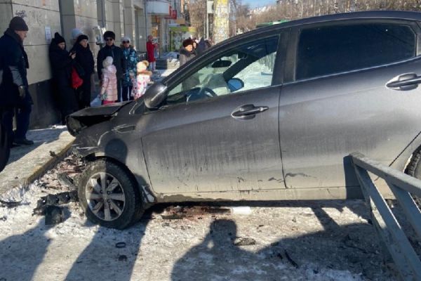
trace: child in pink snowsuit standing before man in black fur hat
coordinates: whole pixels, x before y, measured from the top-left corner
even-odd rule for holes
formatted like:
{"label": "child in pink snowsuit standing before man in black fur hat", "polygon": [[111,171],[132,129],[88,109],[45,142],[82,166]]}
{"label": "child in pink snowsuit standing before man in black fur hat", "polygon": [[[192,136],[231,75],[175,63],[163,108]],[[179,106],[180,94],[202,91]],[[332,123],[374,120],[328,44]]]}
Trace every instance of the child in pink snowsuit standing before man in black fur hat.
{"label": "child in pink snowsuit standing before man in black fur hat", "polygon": [[112,64],[112,57],[107,57],[102,61],[102,86],[100,98],[102,105],[115,103],[117,100],[117,77],[116,67]]}

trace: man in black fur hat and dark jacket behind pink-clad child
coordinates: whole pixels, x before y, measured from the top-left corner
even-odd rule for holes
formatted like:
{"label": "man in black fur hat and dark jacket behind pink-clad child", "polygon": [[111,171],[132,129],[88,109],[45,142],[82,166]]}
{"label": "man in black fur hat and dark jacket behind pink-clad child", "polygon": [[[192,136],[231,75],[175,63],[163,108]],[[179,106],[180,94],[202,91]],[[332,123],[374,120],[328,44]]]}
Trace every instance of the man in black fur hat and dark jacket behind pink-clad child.
{"label": "man in black fur hat and dark jacket behind pink-clad child", "polygon": [[[121,101],[121,79],[123,77],[123,70],[126,69],[126,62],[124,60],[123,50],[121,48],[114,45],[114,40],[116,39],[116,34],[112,31],[104,32],[104,40],[105,46],[104,48],[100,49],[97,56],[97,70],[98,70],[98,77],[101,81],[101,74],[102,74],[102,60],[105,60],[107,57],[112,57],[113,61],[112,64],[117,69],[117,93],[118,93],[118,101]],[[102,82],[102,81],[101,81]]]}

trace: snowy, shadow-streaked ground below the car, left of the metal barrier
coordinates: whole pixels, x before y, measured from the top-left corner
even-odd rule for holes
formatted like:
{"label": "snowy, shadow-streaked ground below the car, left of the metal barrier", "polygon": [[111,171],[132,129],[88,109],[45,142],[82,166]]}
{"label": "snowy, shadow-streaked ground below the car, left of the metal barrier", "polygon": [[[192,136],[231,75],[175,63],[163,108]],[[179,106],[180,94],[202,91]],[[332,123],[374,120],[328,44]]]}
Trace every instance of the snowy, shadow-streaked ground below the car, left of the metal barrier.
{"label": "snowy, shadow-streaked ground below the car, left of the metal barrier", "polygon": [[22,200],[18,207],[0,204],[0,280],[396,278],[359,200],[253,203],[247,215],[217,204],[157,205],[122,231],[94,226],[73,202],[65,222],[45,226],[32,210],[41,196],[67,190],[57,171],[72,169],[59,167],[4,197]]}

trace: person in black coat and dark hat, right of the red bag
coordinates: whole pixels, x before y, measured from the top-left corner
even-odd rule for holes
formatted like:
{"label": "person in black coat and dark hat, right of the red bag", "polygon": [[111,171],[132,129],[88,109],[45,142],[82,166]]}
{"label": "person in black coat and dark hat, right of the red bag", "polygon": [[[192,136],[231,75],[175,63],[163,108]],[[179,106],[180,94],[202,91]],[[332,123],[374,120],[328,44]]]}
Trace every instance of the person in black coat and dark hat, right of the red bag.
{"label": "person in black coat and dark hat, right of the red bag", "polygon": [[76,90],[76,97],[79,102],[79,109],[91,106],[91,75],[93,74],[93,54],[88,44],[88,37],[81,34],[77,37],[76,42],[70,53],[76,53],[76,63],[83,69],[83,84]]}

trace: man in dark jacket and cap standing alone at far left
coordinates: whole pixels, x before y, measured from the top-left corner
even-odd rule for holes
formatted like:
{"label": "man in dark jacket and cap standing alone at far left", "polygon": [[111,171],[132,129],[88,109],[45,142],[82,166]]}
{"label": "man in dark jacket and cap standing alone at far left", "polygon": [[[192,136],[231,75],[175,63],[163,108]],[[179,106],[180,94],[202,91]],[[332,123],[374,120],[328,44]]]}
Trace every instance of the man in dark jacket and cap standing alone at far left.
{"label": "man in dark jacket and cap standing alone at far left", "polygon": [[[0,60],[3,65],[3,83],[0,91],[1,121],[15,145],[32,145],[26,138],[32,98],[28,91],[27,68],[29,62],[23,49],[28,32],[25,21],[14,17],[0,38]],[[16,131],[13,134],[13,115],[16,113]]]}

